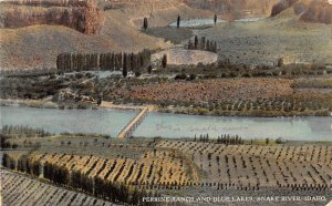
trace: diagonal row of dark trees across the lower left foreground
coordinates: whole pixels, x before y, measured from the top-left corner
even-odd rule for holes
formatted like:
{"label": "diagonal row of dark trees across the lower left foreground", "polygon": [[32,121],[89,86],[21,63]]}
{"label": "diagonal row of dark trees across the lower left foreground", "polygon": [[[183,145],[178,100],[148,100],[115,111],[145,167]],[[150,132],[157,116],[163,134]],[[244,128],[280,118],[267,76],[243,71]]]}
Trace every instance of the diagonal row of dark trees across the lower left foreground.
{"label": "diagonal row of dark trees across the lower left foreground", "polygon": [[153,205],[143,203],[145,196],[157,196],[158,194],[147,193],[143,189],[137,189],[125,185],[124,183],[110,182],[101,177],[91,177],[80,171],[70,171],[65,166],[60,166],[51,163],[43,165],[38,161],[32,161],[27,155],[22,155],[18,161],[13,159],[7,153],[3,154],[2,165],[10,169],[18,169],[22,173],[39,177],[43,177],[51,182],[65,187],[82,190],[90,195],[94,195],[113,203],[125,203],[128,205]]}

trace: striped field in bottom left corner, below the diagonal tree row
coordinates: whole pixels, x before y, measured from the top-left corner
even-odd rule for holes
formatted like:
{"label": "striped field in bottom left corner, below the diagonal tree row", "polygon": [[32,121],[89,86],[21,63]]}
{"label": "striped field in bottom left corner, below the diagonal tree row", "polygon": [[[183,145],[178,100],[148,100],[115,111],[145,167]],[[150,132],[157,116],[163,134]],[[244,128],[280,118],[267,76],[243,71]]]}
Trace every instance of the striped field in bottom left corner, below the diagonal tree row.
{"label": "striped field in bottom left corner, below the diagonal tree row", "polygon": [[110,202],[31,179],[20,174],[7,171],[1,171],[0,174],[0,194],[3,205],[113,205]]}

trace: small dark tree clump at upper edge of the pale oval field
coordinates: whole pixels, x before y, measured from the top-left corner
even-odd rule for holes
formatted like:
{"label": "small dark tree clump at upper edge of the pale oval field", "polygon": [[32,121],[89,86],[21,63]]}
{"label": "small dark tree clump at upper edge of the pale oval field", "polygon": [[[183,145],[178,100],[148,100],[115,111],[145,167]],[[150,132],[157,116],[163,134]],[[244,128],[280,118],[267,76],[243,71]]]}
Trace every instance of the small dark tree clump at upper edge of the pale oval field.
{"label": "small dark tree clump at upper edge of the pale oval field", "polygon": [[191,39],[188,41],[188,50],[206,50],[217,53],[218,47],[216,41],[207,40],[205,37],[199,39],[197,35],[195,35],[194,42]]}

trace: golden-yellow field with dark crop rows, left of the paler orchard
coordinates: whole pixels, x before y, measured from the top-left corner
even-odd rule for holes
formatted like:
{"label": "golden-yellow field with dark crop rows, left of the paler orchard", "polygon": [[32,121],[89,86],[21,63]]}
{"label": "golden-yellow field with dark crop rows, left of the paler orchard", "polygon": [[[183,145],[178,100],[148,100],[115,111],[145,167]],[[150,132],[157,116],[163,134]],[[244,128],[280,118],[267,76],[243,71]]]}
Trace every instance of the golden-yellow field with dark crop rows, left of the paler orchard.
{"label": "golden-yellow field with dark crop rows, left of the paler orchard", "polygon": [[65,154],[37,155],[33,161],[65,166],[90,177],[129,185],[185,185],[197,181],[186,173],[187,163],[168,151],[147,152],[138,161]]}

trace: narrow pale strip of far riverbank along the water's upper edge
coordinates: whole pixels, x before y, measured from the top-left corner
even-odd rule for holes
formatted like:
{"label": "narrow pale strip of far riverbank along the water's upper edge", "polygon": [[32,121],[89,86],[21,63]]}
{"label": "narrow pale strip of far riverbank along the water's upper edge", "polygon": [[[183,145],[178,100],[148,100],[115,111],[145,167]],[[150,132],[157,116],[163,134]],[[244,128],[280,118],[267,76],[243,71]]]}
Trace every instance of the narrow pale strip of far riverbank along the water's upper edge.
{"label": "narrow pale strip of far riverbank along the water's upper edge", "polygon": [[113,110],[144,110],[149,112],[186,114],[186,115],[203,115],[203,116],[243,116],[243,117],[291,117],[291,116],[332,116],[332,112],[313,111],[313,110],[298,110],[298,111],[282,111],[282,110],[209,110],[205,107],[193,106],[160,106],[156,104],[115,104],[113,102],[103,101],[100,106],[91,102],[71,102],[71,103],[55,103],[51,100],[22,100],[22,99],[0,99],[1,106],[29,106],[38,109],[59,109],[59,110],[97,110],[100,107]]}

